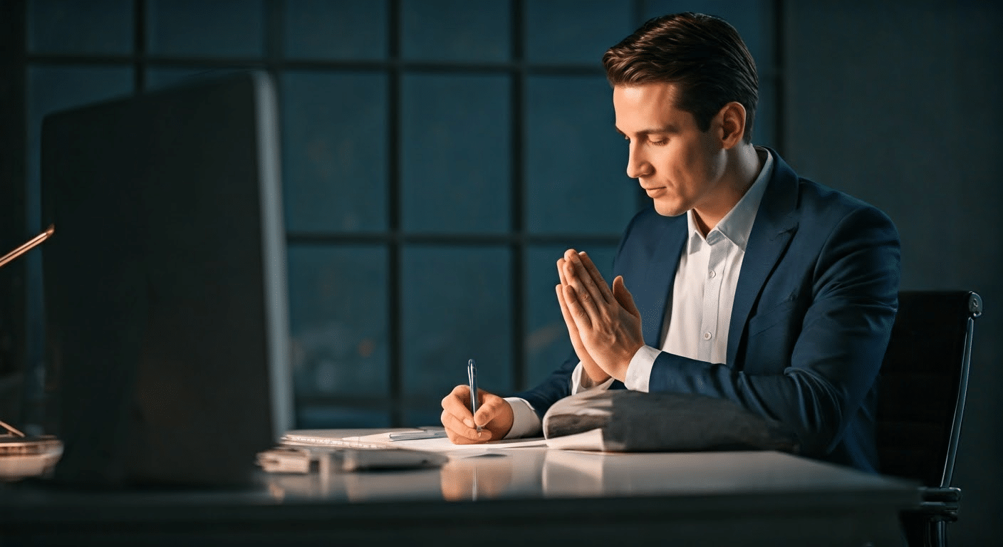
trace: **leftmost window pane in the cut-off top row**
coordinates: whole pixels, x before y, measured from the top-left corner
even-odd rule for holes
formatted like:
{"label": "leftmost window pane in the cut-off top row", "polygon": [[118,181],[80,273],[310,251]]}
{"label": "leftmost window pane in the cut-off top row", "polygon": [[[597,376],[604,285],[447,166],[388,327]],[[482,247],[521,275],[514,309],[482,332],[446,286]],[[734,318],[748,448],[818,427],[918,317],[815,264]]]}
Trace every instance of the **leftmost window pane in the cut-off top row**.
{"label": "leftmost window pane in the cut-off top row", "polygon": [[131,0],[34,0],[28,3],[28,51],[132,51]]}

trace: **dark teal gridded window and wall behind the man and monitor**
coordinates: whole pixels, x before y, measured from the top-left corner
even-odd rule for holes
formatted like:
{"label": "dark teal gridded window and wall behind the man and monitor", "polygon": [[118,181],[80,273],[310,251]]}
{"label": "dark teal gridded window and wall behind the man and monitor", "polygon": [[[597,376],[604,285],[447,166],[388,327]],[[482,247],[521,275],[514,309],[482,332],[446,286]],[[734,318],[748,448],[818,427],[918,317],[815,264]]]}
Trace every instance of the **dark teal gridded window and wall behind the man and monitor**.
{"label": "dark teal gridded window and wall behind the man and monitor", "polygon": [[[484,355],[482,382],[507,391],[565,351],[553,261],[567,245],[608,257],[643,204],[598,58],[647,17],[684,10],[721,15],[748,42],[755,142],[896,222],[903,289],[984,298],[951,533],[956,545],[1000,543],[995,2],[2,0],[0,248],[41,228],[45,113],[268,69],[281,93],[299,424],[431,423],[466,356]],[[562,200],[585,214],[562,216]],[[45,430],[57,385],[40,357],[38,268],[0,270],[0,417]]]}

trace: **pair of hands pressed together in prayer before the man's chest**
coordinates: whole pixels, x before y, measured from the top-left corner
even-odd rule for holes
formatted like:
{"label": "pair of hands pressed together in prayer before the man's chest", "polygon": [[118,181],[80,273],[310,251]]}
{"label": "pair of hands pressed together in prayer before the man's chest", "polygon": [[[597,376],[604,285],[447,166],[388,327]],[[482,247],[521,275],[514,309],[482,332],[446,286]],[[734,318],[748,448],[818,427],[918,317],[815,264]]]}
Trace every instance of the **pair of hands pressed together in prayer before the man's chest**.
{"label": "pair of hands pressed together in prayer before the man's chest", "polygon": [[561,313],[585,372],[594,382],[610,376],[623,381],[631,359],[644,345],[641,313],[623,276],[613,280],[610,290],[589,255],[574,249],[558,260],[558,274]]}

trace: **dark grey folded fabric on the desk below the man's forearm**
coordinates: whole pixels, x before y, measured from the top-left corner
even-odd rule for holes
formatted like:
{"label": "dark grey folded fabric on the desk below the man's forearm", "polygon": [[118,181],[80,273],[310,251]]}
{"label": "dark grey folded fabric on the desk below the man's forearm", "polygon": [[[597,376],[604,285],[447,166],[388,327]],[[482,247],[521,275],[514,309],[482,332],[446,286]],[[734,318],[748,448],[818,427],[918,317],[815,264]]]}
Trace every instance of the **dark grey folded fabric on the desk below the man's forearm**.
{"label": "dark grey folded fabric on the desk below the man's forearm", "polygon": [[586,391],[557,401],[544,416],[548,440],[597,429],[602,432],[602,444],[595,450],[610,452],[797,453],[796,438],[778,422],[731,400],[706,395]]}

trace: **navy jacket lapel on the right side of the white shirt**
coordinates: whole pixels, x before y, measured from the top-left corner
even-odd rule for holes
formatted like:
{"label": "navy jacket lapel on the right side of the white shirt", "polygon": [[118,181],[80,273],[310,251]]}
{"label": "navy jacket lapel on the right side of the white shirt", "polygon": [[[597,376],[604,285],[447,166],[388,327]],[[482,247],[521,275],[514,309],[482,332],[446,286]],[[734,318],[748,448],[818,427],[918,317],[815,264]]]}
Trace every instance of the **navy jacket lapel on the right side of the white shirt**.
{"label": "navy jacket lapel on the right side of the white shirt", "polygon": [[797,175],[774,151],[770,150],[769,153],[774,161],[773,174],[745,246],[745,259],[742,260],[735,300],[731,307],[727,363],[732,366],[752,305],[759,298],[766,278],[797,231]]}

